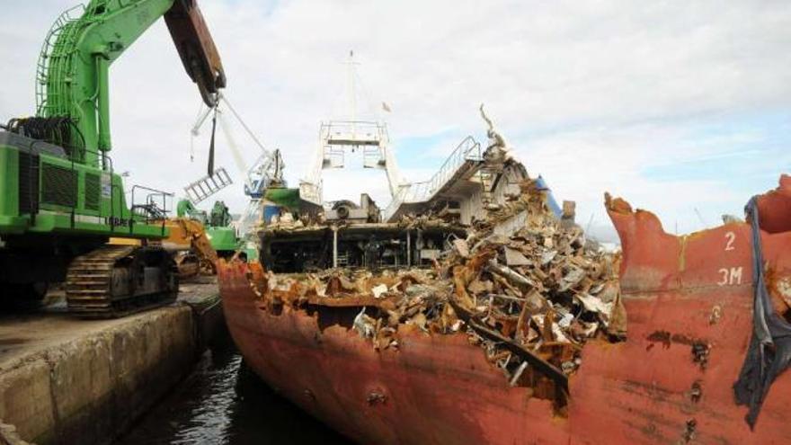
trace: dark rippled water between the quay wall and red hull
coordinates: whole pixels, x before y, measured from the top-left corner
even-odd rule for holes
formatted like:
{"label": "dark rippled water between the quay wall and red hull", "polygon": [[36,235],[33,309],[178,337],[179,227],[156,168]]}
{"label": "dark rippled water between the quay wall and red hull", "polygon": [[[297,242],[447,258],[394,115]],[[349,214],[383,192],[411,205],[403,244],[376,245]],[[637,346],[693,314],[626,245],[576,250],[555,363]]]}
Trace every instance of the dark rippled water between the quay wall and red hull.
{"label": "dark rippled water between the quay wall and red hull", "polygon": [[324,444],[350,441],[276,394],[230,341],[195,369],[114,445]]}

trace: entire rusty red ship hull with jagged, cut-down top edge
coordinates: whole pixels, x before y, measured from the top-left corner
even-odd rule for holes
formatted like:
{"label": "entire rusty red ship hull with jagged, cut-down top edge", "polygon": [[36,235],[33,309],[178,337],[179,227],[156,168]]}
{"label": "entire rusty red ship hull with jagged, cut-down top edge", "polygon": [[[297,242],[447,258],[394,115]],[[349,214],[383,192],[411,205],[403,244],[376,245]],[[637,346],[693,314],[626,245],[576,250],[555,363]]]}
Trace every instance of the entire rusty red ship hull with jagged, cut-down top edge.
{"label": "entire rusty red ship hull with jagged, cut-down top edge", "polygon": [[[761,200],[775,293],[791,289],[791,233],[783,231],[791,184],[781,185]],[[771,387],[754,431],[733,399],[752,329],[750,227],[677,237],[622,201],[609,214],[624,251],[628,339],[585,346],[567,416],[530,388],[509,387],[466,334],[402,333],[398,351],[376,352],[304,310],[271,314],[242,263],[219,268],[227,324],[265,381],[360,443],[788,443],[791,373]]]}

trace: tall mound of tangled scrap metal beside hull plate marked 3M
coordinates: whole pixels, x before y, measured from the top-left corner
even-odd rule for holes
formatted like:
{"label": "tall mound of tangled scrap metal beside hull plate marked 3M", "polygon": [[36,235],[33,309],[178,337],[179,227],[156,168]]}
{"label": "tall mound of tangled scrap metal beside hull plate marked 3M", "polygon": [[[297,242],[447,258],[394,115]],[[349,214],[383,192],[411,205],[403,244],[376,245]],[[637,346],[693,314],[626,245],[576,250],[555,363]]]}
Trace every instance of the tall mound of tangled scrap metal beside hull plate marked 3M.
{"label": "tall mound of tangled scrap metal beside hull plate marked 3M", "polygon": [[[570,216],[573,203],[564,207]],[[518,230],[497,235],[496,227],[520,215]],[[493,208],[454,247],[445,263],[454,282],[449,304],[511,386],[540,388],[548,397],[543,382],[564,387],[564,376],[582,362],[582,344],[626,336],[619,255],[587,241],[573,218],[555,218],[536,181],[522,182],[519,196]]]}

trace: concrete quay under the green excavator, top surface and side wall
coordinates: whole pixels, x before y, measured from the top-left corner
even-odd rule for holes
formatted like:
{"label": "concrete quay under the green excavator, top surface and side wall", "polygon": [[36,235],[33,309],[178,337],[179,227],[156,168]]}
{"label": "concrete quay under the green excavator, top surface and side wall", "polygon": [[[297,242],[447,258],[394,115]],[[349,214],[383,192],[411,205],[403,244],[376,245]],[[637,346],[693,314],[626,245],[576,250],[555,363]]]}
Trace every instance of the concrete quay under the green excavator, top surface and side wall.
{"label": "concrete quay under the green excavator, top surface and side wall", "polygon": [[0,445],[109,444],[155,405],[225,329],[214,277],[178,301],[111,320],[57,303],[0,316]]}

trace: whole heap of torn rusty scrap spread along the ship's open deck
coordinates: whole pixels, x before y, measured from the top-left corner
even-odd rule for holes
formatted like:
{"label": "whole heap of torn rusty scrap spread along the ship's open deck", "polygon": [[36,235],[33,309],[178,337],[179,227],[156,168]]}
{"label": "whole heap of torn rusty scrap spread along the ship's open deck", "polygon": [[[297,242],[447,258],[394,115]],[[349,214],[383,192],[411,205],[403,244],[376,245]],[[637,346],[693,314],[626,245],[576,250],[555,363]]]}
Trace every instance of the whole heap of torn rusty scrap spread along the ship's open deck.
{"label": "whole heap of torn rusty scrap spread along the ship's open deck", "polygon": [[[509,156],[489,156],[503,168],[524,171]],[[620,256],[586,239],[573,223],[573,202],[565,202],[564,215],[556,217],[547,191],[524,176],[518,193],[485,205],[468,226],[436,213],[360,224],[374,232],[359,239],[376,236],[376,230],[428,233],[444,227],[440,254],[424,262],[426,267],[360,262],[313,272],[270,270],[250,280],[253,291],[273,314],[283,305],[307,310],[319,326],[346,325],[378,351],[397,350],[405,330],[467,334],[471,347],[481,348],[511,386],[532,387],[534,396],[555,400],[562,410],[567,376],[582,362],[582,345],[594,337],[614,342],[626,335]],[[263,231],[262,244],[284,230],[279,225]],[[295,230],[316,231],[316,225],[300,223]]]}

